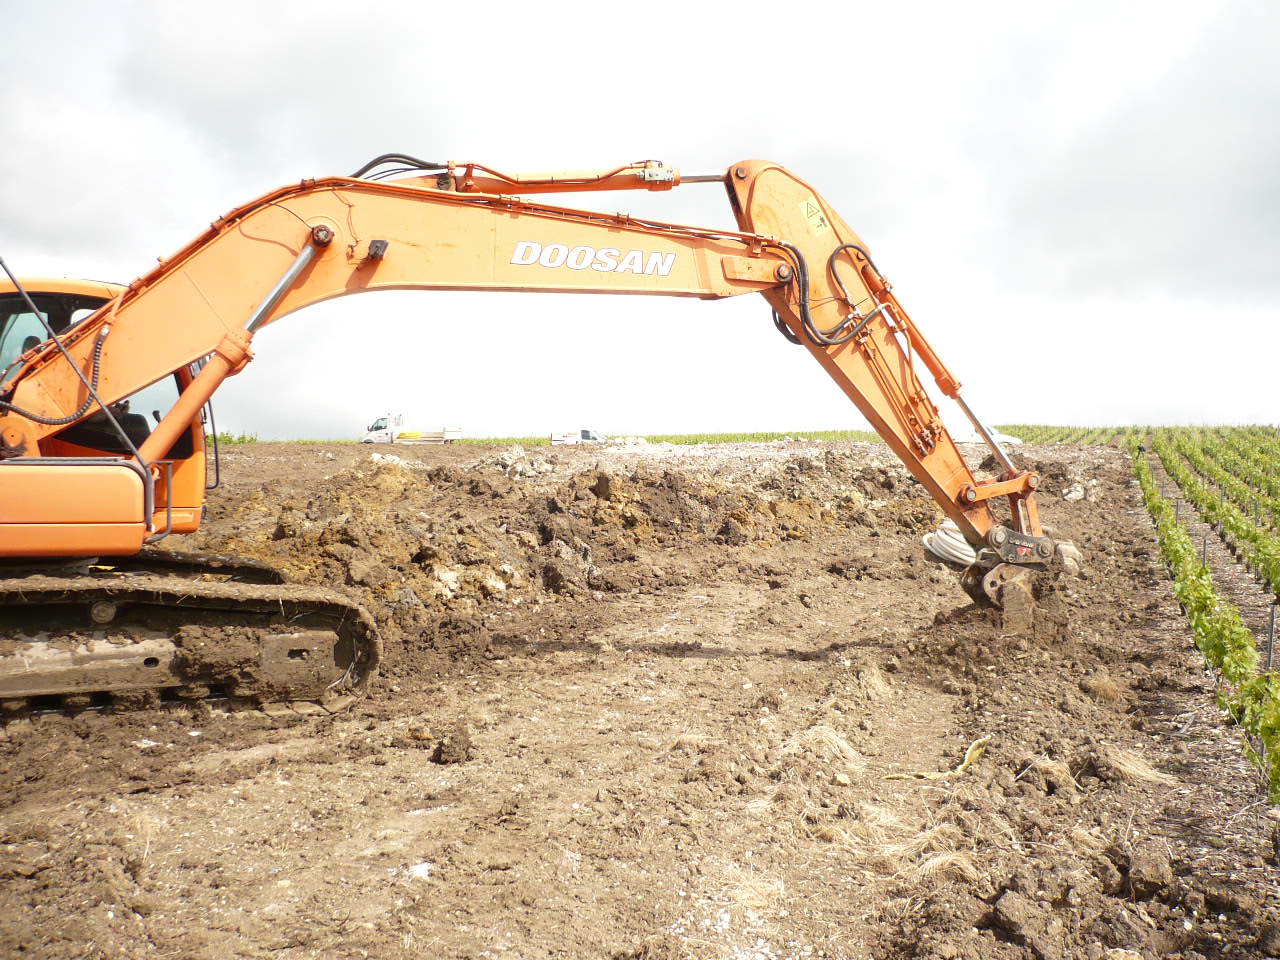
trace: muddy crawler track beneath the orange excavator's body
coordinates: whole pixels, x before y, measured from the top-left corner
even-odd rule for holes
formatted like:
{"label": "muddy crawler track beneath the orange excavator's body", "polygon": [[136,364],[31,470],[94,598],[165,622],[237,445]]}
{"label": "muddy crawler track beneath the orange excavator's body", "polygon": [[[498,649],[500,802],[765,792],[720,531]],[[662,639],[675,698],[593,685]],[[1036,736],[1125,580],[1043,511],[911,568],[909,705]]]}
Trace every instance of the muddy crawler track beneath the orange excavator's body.
{"label": "muddy crawler track beneath the orange excavator's body", "polygon": [[337,708],[378,668],[372,618],[332,590],[173,576],[0,580],[0,708],[227,698]]}

